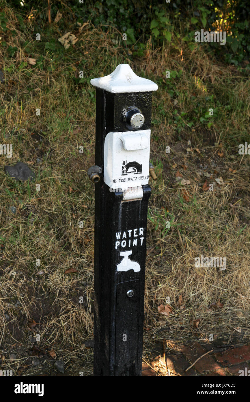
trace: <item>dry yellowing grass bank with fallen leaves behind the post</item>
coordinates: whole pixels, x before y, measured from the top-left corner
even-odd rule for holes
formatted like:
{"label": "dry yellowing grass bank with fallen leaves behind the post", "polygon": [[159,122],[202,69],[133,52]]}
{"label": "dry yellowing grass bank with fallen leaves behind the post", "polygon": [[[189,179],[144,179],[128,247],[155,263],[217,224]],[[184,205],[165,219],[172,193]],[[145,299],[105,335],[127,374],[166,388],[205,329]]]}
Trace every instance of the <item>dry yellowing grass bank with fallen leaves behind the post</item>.
{"label": "dry yellowing grass bank with fallen leaves behind the post", "polygon": [[[94,189],[86,173],[95,152],[90,79],[110,74],[119,63],[159,85],[152,96],[150,160],[158,180],[151,182],[148,207],[144,358],[166,339],[208,342],[213,334],[223,344],[234,334],[230,342],[249,343],[249,156],[238,154],[238,144],[249,140],[246,72],[224,66],[198,45],[190,53],[181,39],[159,49],[148,41],[138,59],[122,41],[112,42],[115,29],[106,33],[89,22],[81,30],[67,18],[68,9],[63,29],[45,24],[43,39],[36,41],[38,14],[23,20],[8,6],[1,11],[8,22],[0,47],[6,76],[0,85],[0,135],[2,144],[13,144],[11,159],[0,156],[1,368],[8,365],[15,375],[53,375],[49,351],[55,350],[69,375],[92,373],[93,351],[85,347],[93,338]],[[65,50],[57,39],[67,31],[78,41]],[[30,65],[27,57],[37,63]],[[175,78],[165,78],[166,70],[176,72]],[[34,183],[4,173],[4,165],[19,160],[35,172]],[[176,180],[177,171],[189,185]],[[214,183],[213,191],[203,190],[205,180]],[[196,268],[194,258],[201,254],[226,257],[226,270]],[[65,274],[70,268],[77,272]],[[166,317],[157,306],[168,297],[172,314]],[[211,306],[219,300],[222,307]],[[29,329],[28,320],[37,324]],[[40,349],[30,351],[36,334]],[[34,354],[42,362],[38,367],[31,364]]]}

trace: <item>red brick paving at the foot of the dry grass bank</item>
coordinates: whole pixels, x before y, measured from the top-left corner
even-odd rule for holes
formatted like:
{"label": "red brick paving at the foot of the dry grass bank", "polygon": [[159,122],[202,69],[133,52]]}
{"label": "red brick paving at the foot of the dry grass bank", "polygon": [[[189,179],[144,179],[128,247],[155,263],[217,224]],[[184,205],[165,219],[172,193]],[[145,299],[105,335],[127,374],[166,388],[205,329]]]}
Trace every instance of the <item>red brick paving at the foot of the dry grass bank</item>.
{"label": "red brick paving at the foot of the dry grass bank", "polygon": [[187,367],[204,353],[213,349],[213,345],[201,345],[197,341],[185,345],[177,343],[174,347],[171,347],[170,352],[166,348],[166,365],[162,347],[163,345],[158,344],[158,350],[156,347],[152,352],[152,357],[154,358],[150,363],[142,363],[142,375],[238,376],[239,370],[244,370],[244,375],[248,373],[250,376],[250,345],[214,347],[212,352],[203,356],[188,371],[185,371]]}

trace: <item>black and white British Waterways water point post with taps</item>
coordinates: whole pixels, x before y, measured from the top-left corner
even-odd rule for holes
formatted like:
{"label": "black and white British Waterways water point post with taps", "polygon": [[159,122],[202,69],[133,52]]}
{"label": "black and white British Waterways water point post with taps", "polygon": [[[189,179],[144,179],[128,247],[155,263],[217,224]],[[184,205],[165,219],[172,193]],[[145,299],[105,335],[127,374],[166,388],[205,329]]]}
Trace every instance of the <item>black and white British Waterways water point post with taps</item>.
{"label": "black and white British Waterways water point post with taps", "polygon": [[96,86],[94,375],[141,375],[152,91],[128,64]]}

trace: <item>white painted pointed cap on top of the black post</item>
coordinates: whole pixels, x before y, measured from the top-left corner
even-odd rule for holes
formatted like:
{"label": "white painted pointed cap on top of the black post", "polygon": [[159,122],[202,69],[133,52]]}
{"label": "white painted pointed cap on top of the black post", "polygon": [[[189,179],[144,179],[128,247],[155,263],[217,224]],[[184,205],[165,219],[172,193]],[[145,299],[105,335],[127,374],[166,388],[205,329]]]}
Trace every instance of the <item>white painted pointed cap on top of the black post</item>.
{"label": "white painted pointed cap on top of the black post", "polygon": [[92,78],[90,83],[97,88],[105,89],[115,94],[124,92],[151,92],[158,89],[158,85],[154,82],[134,74],[128,64],[119,64],[108,76]]}

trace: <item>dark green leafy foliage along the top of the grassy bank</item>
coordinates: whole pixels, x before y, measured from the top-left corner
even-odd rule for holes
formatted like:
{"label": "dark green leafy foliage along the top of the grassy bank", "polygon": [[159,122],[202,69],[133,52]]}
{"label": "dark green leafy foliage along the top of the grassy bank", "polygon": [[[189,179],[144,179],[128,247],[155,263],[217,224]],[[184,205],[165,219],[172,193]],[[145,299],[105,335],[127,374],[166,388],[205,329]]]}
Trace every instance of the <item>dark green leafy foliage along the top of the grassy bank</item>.
{"label": "dark green leafy foliage along the top of the grassy bank", "polygon": [[[10,0],[9,6],[18,8],[26,14],[33,7],[33,1],[20,5],[19,0]],[[47,27],[47,0],[42,0],[36,6],[39,10],[37,29],[43,29],[49,38]],[[59,21],[59,27],[65,23],[91,21],[95,27],[102,25],[102,30],[108,31],[115,27],[118,35],[126,33],[127,40],[121,43],[124,47],[132,47],[134,55],[140,57],[145,51],[145,44],[152,38],[153,45],[162,45],[173,41],[174,37],[182,38],[190,50],[195,47],[195,31],[226,31],[226,45],[220,43],[199,43],[207,46],[218,59],[238,65],[250,56],[250,3],[248,0],[175,0],[169,3],[152,0],[150,4],[143,0],[88,0],[83,3],[68,0],[67,7],[62,2],[51,4],[51,19],[55,18],[57,10],[66,11],[67,21]],[[217,21],[217,22],[216,22]],[[0,26],[6,32],[7,19],[0,13]],[[219,25],[218,25],[219,23]],[[61,25],[62,24],[62,25]],[[20,16],[20,31],[26,29]],[[120,34],[119,34],[120,33]],[[13,33],[14,35],[14,33]],[[117,40],[117,39],[114,39]],[[47,49],[60,52],[57,44],[46,44]]]}

